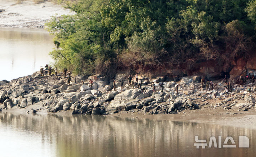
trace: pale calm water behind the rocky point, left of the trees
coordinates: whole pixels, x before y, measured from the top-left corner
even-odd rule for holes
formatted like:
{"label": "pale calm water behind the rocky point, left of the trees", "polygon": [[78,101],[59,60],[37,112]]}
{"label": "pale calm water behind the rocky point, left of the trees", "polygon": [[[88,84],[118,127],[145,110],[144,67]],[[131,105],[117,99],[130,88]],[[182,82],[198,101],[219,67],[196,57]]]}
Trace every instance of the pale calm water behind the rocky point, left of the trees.
{"label": "pale calm water behind the rocky point, left of the trees", "polygon": [[0,28],[0,80],[31,75],[53,62],[52,39],[44,29]]}

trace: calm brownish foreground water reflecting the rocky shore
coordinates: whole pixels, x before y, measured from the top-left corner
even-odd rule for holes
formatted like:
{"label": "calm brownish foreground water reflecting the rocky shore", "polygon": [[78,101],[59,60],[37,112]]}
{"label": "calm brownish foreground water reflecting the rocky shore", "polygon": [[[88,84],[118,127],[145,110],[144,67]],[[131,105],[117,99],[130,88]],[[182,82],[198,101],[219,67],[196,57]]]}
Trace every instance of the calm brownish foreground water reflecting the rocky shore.
{"label": "calm brownish foreground water reflecting the rocky shore", "polygon": [[[195,136],[233,137],[236,148],[199,149]],[[4,157],[255,156],[254,129],[118,116],[0,113],[0,152]],[[238,148],[238,137],[250,139]],[[231,144],[229,141],[228,144]]]}

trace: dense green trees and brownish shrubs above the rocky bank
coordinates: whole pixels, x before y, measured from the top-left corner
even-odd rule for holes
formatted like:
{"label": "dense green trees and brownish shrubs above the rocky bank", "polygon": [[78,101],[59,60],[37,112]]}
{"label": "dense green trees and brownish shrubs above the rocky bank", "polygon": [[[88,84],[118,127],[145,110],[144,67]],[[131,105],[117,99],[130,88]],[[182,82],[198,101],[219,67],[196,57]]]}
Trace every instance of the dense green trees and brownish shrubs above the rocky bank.
{"label": "dense green trees and brownish shrubs above the rocky bank", "polygon": [[75,12],[52,18],[50,54],[76,74],[193,69],[255,53],[255,0],[60,0]]}

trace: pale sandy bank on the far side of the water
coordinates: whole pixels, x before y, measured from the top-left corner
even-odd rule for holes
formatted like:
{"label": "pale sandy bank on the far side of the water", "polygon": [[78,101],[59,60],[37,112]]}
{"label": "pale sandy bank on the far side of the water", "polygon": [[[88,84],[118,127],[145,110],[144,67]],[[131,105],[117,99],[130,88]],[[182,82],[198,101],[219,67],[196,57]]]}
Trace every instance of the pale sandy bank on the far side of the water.
{"label": "pale sandy bank on the far side of the water", "polygon": [[[45,7],[41,7],[45,6]],[[74,14],[52,2],[35,4],[32,0],[16,4],[16,0],[0,0],[0,27],[43,28],[52,16]]]}

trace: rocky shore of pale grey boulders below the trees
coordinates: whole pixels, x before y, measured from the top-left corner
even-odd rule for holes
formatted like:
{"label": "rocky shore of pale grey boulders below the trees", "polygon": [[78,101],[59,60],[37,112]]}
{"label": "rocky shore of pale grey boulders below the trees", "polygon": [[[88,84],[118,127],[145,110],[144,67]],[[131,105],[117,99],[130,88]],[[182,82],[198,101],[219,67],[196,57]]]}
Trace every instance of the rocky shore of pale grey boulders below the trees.
{"label": "rocky shore of pale grey boulders below the trees", "polygon": [[[27,113],[70,113],[70,114],[113,114],[113,113],[141,113],[141,114],[190,114],[190,113],[239,113],[255,110],[255,87],[249,80],[246,85],[233,85],[230,97],[225,96],[226,85],[222,80],[214,82],[214,89],[201,89],[200,77],[182,77],[171,81],[158,77],[149,79],[139,76],[142,80],[141,89],[128,86],[128,75],[120,73],[115,79],[108,79],[100,75],[87,79],[94,81],[92,90],[90,85],[82,85],[84,77],[75,76],[70,85],[62,74],[55,77],[40,76],[39,71],[33,75],[20,77],[10,82],[0,81],[0,110],[7,112]],[[117,89],[113,90],[113,80]],[[150,82],[156,84],[156,92]],[[159,82],[164,82],[161,92]],[[85,82],[88,82],[85,80]],[[175,84],[179,84],[177,95]],[[121,87],[123,84],[123,87]],[[247,86],[252,87],[251,95],[247,94]],[[135,85],[137,87],[137,85]]]}

